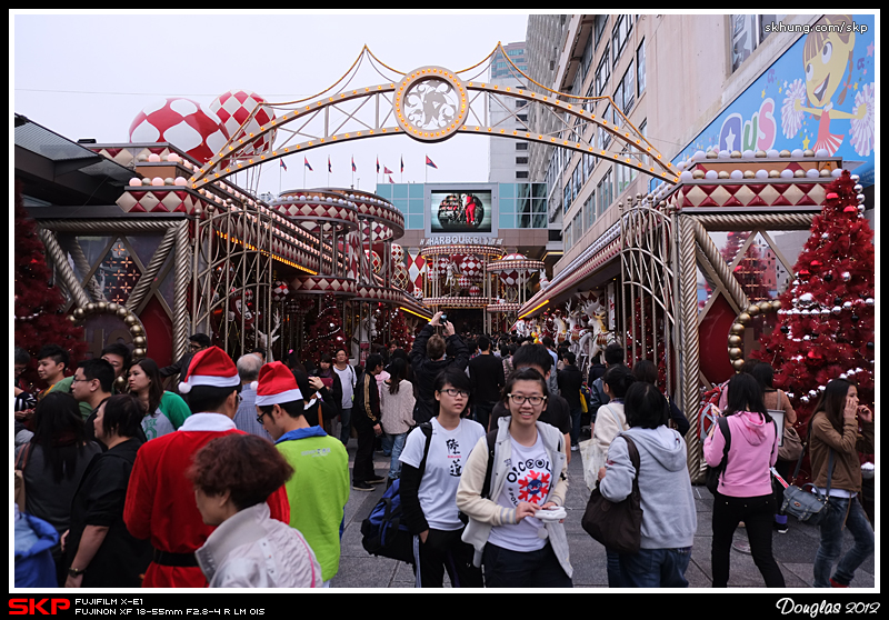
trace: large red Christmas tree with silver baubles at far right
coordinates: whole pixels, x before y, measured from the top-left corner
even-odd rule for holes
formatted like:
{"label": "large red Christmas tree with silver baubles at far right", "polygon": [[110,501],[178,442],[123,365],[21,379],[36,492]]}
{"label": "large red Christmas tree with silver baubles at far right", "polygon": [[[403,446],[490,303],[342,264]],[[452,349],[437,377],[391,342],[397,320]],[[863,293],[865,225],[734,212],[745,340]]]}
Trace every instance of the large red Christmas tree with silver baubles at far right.
{"label": "large red Christmas tree with silver baubles at far right", "polygon": [[855,382],[861,404],[873,406],[873,230],[856,180],[843,171],[827,187],[796,278],[780,297],[778,329],[752,354],[775,368],[775,387],[790,397],[799,428],[837,378]]}

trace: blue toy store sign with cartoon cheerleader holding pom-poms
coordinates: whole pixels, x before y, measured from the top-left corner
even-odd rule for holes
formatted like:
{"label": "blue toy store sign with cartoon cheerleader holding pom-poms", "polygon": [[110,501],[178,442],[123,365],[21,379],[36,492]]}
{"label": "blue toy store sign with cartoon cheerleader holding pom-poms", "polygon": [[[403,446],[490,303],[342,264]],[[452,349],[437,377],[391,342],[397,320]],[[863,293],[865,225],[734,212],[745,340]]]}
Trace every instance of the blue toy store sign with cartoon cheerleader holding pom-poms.
{"label": "blue toy store sign with cartoon cheerleader holding pom-poms", "polygon": [[673,159],[696,151],[811,149],[841,157],[865,186],[873,184],[876,142],[873,16],[823,16],[805,27],[768,70]]}

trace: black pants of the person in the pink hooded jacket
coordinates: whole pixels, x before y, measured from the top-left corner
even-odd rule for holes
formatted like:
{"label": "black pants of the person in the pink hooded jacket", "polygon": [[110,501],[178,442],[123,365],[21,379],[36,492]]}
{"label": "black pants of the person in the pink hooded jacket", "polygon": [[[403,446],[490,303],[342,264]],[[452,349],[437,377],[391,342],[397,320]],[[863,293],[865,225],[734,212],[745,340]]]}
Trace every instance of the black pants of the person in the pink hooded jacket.
{"label": "black pants of the person in the pink hooded jacket", "polygon": [[717,493],[713,499],[713,547],[711,560],[713,588],[727,588],[729,582],[729,554],[738,523],[743,521],[750,552],[767,588],[783,588],[785,577],[771,552],[771,530],[775,520],[772,494],[753,498],[733,498]]}

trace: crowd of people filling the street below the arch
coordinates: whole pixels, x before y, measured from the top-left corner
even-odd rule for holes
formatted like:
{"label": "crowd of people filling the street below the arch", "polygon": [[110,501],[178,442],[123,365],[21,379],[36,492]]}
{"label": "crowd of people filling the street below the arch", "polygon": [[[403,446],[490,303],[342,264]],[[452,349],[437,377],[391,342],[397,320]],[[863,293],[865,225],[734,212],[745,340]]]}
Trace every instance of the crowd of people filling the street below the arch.
{"label": "crowd of people filling the street below the arch", "polygon": [[[656,367],[630,368],[625,354],[609,346],[583,376],[549,339],[461,336],[439,312],[410,350],[361,364],[344,349],[233,360],[198,333],[169,367],[111,344],[71,368],[50,344],[37,356],[46,388],[36,392],[20,381],[30,358],[17,348],[16,583],[329,587],[350,492],[398,481],[419,587],[440,588],[447,573],[455,588],[570,588],[563,504],[583,443],[587,480],[612,502],[638,488],[642,508],[639,551],[606,548],[609,587],[687,587],[698,526],[689,422]],[[771,379],[760,362],[728,381],[725,420],[703,444],[707,463],[721,464],[713,587],[728,586],[740,523],[765,584],[785,586],[771,543],[787,517],[771,472],[788,477],[779,438],[797,419]],[[858,458],[873,452],[873,413],[855,384],[827,386],[808,443],[812,482],[830,497],[813,584],[848,587],[875,543]],[[390,459],[386,477],[378,451]],[[843,527],[855,538],[845,554]]]}

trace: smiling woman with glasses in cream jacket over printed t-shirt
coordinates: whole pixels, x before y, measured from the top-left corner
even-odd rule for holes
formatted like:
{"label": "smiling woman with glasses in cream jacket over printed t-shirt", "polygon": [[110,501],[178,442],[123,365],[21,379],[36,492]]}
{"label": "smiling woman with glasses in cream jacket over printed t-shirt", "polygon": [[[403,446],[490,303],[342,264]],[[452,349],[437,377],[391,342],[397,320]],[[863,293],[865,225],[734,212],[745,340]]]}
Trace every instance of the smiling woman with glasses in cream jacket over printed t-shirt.
{"label": "smiling woman with glasses in cream jacket over printed t-shirt", "polygon": [[[571,588],[562,507],[568,490],[565,436],[539,422],[548,398],[537,370],[517,370],[489,448],[479,440],[466,463],[457,507],[469,517],[463,540],[488,588]],[[490,462],[489,462],[490,461]],[[489,473],[490,472],[490,473]]]}

